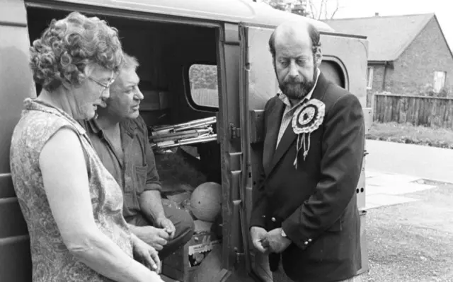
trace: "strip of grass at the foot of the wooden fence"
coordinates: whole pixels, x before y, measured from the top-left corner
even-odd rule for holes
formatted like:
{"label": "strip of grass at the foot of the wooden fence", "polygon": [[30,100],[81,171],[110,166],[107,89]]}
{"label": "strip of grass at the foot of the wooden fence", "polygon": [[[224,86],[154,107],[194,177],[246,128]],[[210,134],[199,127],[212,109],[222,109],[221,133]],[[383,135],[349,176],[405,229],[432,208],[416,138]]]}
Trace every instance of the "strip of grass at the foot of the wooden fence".
{"label": "strip of grass at the foot of the wooden fence", "polygon": [[386,124],[374,122],[367,139],[453,149],[453,129],[416,127],[412,124],[395,122]]}

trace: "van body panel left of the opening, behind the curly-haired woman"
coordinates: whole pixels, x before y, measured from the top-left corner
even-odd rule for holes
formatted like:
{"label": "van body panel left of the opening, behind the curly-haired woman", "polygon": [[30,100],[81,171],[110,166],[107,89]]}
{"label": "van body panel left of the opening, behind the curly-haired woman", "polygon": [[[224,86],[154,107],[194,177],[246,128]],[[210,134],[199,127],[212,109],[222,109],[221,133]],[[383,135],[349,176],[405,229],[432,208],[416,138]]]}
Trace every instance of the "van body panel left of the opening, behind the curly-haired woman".
{"label": "van body panel left of the opening, behind the curly-haired woman", "polygon": [[23,100],[35,97],[27,15],[21,0],[0,0],[0,281],[31,281],[30,242],[9,167]]}

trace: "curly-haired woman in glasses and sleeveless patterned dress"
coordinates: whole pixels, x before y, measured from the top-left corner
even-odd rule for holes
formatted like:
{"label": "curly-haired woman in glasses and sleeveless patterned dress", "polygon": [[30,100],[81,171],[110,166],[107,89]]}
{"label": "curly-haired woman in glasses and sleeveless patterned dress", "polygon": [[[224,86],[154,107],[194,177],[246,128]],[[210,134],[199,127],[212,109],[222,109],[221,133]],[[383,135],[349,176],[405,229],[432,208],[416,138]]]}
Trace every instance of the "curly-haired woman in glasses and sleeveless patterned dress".
{"label": "curly-haired woman in glasses and sleeveless patterned dress", "polygon": [[43,89],[24,102],[11,174],[30,233],[33,281],[161,281],[155,249],[130,233],[122,191],[75,121],[105,106],[123,58],[117,30],[71,13],[52,20],[30,49]]}

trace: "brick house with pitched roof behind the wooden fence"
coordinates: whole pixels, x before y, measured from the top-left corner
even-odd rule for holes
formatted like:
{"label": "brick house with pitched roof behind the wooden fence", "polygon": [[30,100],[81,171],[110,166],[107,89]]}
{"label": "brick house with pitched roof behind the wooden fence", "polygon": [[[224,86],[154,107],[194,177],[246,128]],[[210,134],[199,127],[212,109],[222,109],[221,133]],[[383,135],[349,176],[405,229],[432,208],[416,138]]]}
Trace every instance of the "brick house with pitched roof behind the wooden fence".
{"label": "brick house with pitched roof behind the wooden fence", "polygon": [[338,33],[367,36],[369,93],[419,95],[427,90],[450,90],[453,95],[453,54],[434,13],[376,14],[326,23]]}

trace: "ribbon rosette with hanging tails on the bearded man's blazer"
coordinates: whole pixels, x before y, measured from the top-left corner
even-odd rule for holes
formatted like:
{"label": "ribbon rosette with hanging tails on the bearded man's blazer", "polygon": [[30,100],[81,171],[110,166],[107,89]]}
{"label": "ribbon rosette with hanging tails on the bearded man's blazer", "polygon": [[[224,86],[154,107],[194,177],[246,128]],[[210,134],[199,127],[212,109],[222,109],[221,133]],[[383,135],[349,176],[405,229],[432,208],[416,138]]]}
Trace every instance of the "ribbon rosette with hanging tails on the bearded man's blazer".
{"label": "ribbon rosette with hanging tails on the bearded man's blazer", "polygon": [[310,134],[323,123],[326,105],[317,99],[311,99],[300,105],[292,115],[292,130],[297,134],[297,153],[294,167],[297,168],[297,157],[304,148],[304,160],[310,150]]}

